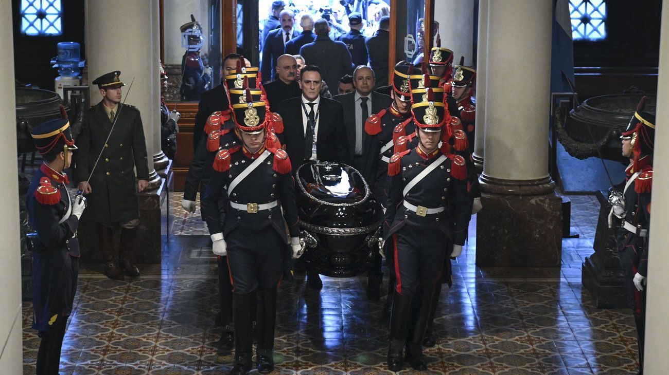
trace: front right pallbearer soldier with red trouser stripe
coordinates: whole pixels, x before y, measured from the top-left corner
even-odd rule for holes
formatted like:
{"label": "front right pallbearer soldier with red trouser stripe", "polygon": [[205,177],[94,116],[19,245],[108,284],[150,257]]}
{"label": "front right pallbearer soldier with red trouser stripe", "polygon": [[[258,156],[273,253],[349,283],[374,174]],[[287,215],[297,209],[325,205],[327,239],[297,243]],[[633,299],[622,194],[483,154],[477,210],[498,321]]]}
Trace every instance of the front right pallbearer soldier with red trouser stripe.
{"label": "front right pallbearer soldier with red trouser stripe", "polygon": [[[443,102],[434,101],[432,89],[426,95],[427,101],[411,106],[419,144],[395,153],[388,165],[383,238],[393,248],[396,278],[387,358],[391,371],[401,370],[405,346],[411,367],[427,370],[422,342],[434,286],[444,258],[460,255],[471,214],[466,160],[439,147],[450,115]],[[455,244],[451,254],[446,254],[448,240]],[[418,290],[419,310],[410,320]]]}

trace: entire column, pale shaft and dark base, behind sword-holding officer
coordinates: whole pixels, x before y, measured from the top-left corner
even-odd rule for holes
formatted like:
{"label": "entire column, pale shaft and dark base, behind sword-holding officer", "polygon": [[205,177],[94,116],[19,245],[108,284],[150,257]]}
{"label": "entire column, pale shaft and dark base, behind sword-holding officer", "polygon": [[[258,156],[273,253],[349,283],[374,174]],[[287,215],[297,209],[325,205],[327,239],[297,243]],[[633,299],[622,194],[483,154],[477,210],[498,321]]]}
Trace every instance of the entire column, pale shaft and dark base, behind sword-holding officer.
{"label": "entire column, pale shaft and dark base, behind sword-holding officer", "polygon": [[[149,188],[139,194],[140,227],[132,261],[161,260],[161,200],[165,179],[156,171],[163,160],[160,147],[159,0],[86,1],[86,60],[89,83],[109,71],[120,70],[123,98],[142,116],[149,163]],[[132,88],[130,88],[130,82]],[[101,99],[91,87],[91,101]],[[156,162],[159,163],[156,163]],[[164,166],[163,166],[164,167]],[[96,248],[94,225],[82,218],[82,248]],[[99,252],[82,252],[82,262],[100,262]]]}

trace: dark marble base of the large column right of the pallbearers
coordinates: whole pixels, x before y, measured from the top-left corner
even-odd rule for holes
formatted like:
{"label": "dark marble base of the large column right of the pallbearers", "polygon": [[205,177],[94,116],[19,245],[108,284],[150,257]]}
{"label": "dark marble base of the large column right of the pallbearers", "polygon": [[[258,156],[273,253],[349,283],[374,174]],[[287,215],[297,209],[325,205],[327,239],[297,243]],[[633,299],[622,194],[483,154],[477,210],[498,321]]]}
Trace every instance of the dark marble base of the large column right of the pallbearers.
{"label": "dark marble base of the large column right of the pallbearers", "polygon": [[481,175],[476,266],[560,267],[562,200],[550,177],[531,181]]}

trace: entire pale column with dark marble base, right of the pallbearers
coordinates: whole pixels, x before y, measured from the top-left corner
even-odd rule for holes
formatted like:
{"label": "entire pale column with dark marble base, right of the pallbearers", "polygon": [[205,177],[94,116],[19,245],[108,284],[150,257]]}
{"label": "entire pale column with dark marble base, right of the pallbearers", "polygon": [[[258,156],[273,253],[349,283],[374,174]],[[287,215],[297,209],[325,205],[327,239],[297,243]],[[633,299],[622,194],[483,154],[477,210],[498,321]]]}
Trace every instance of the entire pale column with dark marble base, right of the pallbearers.
{"label": "entire pale column with dark marble base, right of the pallbearers", "polygon": [[548,174],[551,4],[488,3],[486,61],[494,63],[485,72],[478,266],[561,263],[561,198]]}

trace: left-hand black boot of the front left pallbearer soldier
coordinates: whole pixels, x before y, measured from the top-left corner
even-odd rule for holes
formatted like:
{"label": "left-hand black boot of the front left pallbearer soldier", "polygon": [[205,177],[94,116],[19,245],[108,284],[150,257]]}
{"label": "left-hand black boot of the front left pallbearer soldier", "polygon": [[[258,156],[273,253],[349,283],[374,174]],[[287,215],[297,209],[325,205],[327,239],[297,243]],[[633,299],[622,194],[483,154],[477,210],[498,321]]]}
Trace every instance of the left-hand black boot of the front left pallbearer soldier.
{"label": "left-hand black boot of the front left pallbearer soldier", "polygon": [[255,293],[234,294],[233,321],[235,335],[235,364],[231,375],[243,375],[251,371],[252,342],[252,311]]}

